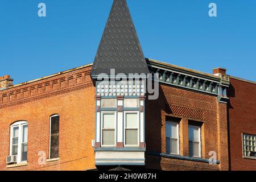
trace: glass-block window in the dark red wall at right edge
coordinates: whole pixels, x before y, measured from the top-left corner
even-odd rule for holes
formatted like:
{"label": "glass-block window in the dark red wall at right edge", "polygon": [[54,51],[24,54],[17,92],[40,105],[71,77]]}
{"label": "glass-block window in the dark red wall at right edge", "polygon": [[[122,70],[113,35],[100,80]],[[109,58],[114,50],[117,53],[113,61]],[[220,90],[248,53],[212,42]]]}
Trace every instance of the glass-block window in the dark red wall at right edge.
{"label": "glass-block window in the dark red wall at right edge", "polygon": [[243,134],[243,156],[256,159],[256,135]]}

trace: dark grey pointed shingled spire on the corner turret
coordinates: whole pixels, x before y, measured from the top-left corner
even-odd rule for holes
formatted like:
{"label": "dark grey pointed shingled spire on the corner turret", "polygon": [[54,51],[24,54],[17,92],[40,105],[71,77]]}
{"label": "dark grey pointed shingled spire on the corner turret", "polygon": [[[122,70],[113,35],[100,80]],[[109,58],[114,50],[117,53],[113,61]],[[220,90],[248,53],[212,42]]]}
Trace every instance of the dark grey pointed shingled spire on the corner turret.
{"label": "dark grey pointed shingled spire on the corner turret", "polygon": [[91,75],[149,73],[126,0],[114,0]]}

